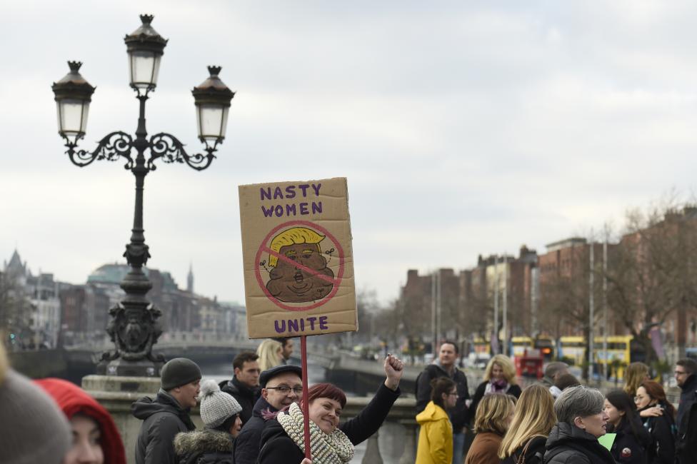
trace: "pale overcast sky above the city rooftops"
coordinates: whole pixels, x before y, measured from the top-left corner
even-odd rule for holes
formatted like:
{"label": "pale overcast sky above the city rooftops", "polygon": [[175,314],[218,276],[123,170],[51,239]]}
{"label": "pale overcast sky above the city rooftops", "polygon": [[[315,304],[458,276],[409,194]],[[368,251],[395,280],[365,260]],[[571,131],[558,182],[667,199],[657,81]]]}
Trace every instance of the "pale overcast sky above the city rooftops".
{"label": "pale overcast sky above the city rooftops", "polygon": [[237,186],[345,176],[358,288],[395,298],[409,268],[476,264],[621,226],[689,195],[697,172],[692,1],[0,0],[0,261],[84,283],[119,261],[134,178],[74,166],[51,83],[79,60],[97,87],[82,148],[134,132],[124,35],[169,39],[149,133],[198,150],[191,89],[206,66],[237,92],[206,171],[145,182],[152,268],[244,301]]}

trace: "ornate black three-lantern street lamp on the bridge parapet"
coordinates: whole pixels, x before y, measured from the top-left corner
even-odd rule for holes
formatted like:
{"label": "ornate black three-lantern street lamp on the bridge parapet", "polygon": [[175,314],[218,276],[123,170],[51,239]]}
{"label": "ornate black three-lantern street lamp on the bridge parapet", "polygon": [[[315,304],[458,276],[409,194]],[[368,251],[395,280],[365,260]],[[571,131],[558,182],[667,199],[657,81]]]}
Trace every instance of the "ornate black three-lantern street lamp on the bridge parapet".
{"label": "ornate black three-lantern street lamp on the bridge parapet", "polygon": [[[210,166],[218,145],[225,138],[227,116],[234,92],[219,78],[221,68],[209,66],[210,76],[201,85],[194,87],[196,118],[199,140],[204,143],[204,153],[189,155],[184,144],[169,133],[156,133],[147,138],[145,128],[145,102],[155,90],[160,59],[167,40],[151,26],[153,16],[141,15],[143,24],[126,36],[129,55],[131,88],[139,100],[139,118],[136,137],[126,132],[111,132],[99,141],[94,151],[78,149],[84,138],[91,96],[91,86],[79,73],[81,63],[69,61],[70,72],[51,87],[55,94],[58,111],[59,134],[66,141],[66,153],[76,166],[87,166],[94,160],[126,160],[126,169],[136,178],[136,207],[131,242],[126,245],[124,257],[131,270],[121,282],[126,292],[124,300],[109,310],[111,320],[106,328],[115,350],[106,351],[97,366],[98,373],[109,375],[156,376],[164,363],[161,355],[154,355],[152,347],[162,333],[159,321],[161,311],[146,298],[152,283],[143,272],[150,258],[143,230],[143,186],[147,173],[154,171],[154,161],[161,158],[164,163],[186,163],[201,171]],[[131,152],[135,149],[136,155]],[[149,151],[149,157],[145,153]]]}

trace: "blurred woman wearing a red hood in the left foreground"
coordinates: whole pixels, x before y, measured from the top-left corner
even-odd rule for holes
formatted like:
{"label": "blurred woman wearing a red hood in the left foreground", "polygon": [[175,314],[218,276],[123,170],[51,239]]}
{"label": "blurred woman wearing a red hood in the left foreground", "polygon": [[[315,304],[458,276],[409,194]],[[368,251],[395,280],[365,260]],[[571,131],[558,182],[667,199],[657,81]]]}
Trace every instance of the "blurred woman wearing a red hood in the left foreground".
{"label": "blurred woman wearing a red hood in the left foreground", "polygon": [[74,383],[59,378],[34,380],[70,421],[73,446],[64,464],[126,464],[124,443],[104,406]]}

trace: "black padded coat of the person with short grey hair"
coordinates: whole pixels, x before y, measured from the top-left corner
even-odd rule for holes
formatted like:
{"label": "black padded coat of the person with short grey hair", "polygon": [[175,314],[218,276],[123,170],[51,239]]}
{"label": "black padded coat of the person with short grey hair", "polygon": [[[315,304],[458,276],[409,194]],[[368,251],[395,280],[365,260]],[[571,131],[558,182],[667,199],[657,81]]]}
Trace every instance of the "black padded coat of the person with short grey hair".
{"label": "black padded coat of the person with short grey hair", "polygon": [[616,464],[596,437],[566,422],[554,425],[545,446],[544,464]]}

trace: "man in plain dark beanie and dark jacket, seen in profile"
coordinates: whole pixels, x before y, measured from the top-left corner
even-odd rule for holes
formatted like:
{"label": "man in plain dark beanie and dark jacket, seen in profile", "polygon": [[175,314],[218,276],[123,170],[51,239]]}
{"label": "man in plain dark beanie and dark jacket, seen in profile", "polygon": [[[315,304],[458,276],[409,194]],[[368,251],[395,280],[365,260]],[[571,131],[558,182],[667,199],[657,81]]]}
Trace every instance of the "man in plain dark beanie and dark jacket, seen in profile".
{"label": "man in plain dark beanie and dark jacket, seen in profile", "polygon": [[196,429],[189,410],[196,406],[201,369],[187,358],[169,360],[160,371],[161,388],[155,399],[148,396],[131,405],[131,413],[143,420],[136,441],[136,464],[178,464],[174,437]]}

